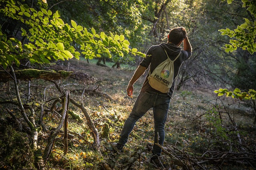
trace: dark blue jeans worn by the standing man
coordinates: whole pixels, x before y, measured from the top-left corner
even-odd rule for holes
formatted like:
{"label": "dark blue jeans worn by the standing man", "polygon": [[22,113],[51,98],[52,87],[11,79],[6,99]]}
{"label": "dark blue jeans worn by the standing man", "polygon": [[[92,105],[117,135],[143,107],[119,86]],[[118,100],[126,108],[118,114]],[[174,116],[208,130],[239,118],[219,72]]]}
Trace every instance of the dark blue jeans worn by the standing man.
{"label": "dark blue jeans worn by the standing man", "polygon": [[[167,94],[159,94],[156,92],[140,92],[133,106],[132,112],[124,123],[124,127],[120,134],[118,144],[125,145],[128,141],[134,125],[149,109],[153,108],[154,113],[154,143],[163,145],[164,143],[164,124],[166,122],[167,113],[170,104],[170,96]],[[159,138],[159,139],[158,139]],[[162,149],[157,145],[153,146],[153,154],[160,156]]]}

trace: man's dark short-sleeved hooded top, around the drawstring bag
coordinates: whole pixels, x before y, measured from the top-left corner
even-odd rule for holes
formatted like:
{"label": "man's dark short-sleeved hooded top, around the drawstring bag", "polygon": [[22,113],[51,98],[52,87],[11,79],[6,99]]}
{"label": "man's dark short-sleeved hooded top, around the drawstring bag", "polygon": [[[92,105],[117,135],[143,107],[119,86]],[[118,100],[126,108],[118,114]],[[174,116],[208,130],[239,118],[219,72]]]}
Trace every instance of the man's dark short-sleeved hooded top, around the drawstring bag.
{"label": "man's dark short-sleeved hooded top, around the drawstring bag", "polygon": [[[148,49],[148,52],[146,53],[146,57],[142,60],[142,62],[140,63],[141,66],[148,68],[150,66],[150,72],[153,72],[154,69],[163,61],[165,61],[167,59],[167,55],[164,51],[164,49],[166,50],[168,57],[171,60],[174,60],[178,54],[180,53],[180,56],[178,57],[178,59],[176,59],[176,61],[174,61],[174,80],[172,83],[172,87],[170,88],[170,91],[167,93],[170,98],[172,98],[172,94],[174,92],[174,86],[175,86],[175,82],[176,82],[176,77],[179,73],[180,70],[180,66],[181,64],[186,61],[187,59],[189,59],[191,57],[191,51],[184,51],[181,49],[181,47],[177,47],[175,44],[173,43],[161,43],[160,45],[153,45]],[[157,93],[162,93],[159,92],[158,90],[155,90],[154,88],[152,88],[150,86],[150,84],[148,83],[148,75],[146,76],[144,83],[142,85],[141,88],[141,92],[157,92]]]}

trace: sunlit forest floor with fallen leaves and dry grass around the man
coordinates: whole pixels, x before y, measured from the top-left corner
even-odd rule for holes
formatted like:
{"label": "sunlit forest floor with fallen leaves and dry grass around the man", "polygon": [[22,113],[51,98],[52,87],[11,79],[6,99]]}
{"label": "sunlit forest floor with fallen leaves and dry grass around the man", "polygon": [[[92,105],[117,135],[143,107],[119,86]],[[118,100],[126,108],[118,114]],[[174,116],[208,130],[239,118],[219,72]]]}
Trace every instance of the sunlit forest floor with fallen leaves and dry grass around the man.
{"label": "sunlit forest floor with fallen leaves and dry grass around the man", "polygon": [[[123,152],[116,153],[110,147],[110,143],[118,141],[124,121],[132,110],[145,75],[134,85],[134,94],[130,98],[126,95],[126,86],[134,73],[134,68],[122,65],[121,69],[116,69],[111,65],[102,67],[96,66],[92,61],[89,62],[72,59],[53,67],[55,70],[74,72],[70,78],[62,80],[61,85],[64,90],[70,91],[70,98],[78,102],[81,101],[83,94],[84,106],[100,135],[100,151],[94,150],[93,137],[82,111],[70,104],[68,131],[71,134],[79,134],[82,138],[79,139],[75,135],[69,139],[68,154],[63,156],[63,141],[60,135],[56,139],[47,167],[98,170],[104,169],[102,165],[106,163],[109,167],[105,169],[115,170],[129,164],[136,170],[179,170],[182,169],[182,165],[174,161],[174,158],[178,158],[186,164],[187,168],[192,164],[195,169],[256,169],[256,128],[252,124],[254,113],[241,101],[225,97],[217,98],[217,94],[214,93],[216,89],[184,87],[179,91],[175,90],[165,126],[164,149],[166,152],[163,152],[160,157],[162,165],[156,166],[149,161],[150,144],[154,141],[152,110],[149,110],[136,123]],[[26,82],[20,83],[24,84],[25,91]],[[46,84],[50,82],[42,80],[36,83],[37,87],[41,84],[44,88],[41,92],[37,88],[38,94],[32,89],[34,100],[40,100],[40,98],[49,100],[58,96],[54,86],[46,88]],[[8,87],[6,84],[3,85],[2,96],[8,94]],[[216,107],[213,109],[214,106]],[[3,106],[0,105],[0,109],[2,112]],[[43,118],[45,125],[49,127],[57,127],[59,119],[60,117],[54,113],[44,115]],[[234,131],[233,126],[230,125],[233,124],[230,119],[237,124],[237,130]],[[230,127],[232,128],[229,129]],[[39,139],[38,144],[45,146],[47,132],[41,131]],[[241,150],[242,148],[244,150]],[[131,161],[130,158],[136,156],[141,149],[143,152],[140,158]],[[242,159],[237,154],[244,154],[242,157],[245,158]],[[7,167],[2,161],[5,160],[4,156],[0,158],[2,167]]]}

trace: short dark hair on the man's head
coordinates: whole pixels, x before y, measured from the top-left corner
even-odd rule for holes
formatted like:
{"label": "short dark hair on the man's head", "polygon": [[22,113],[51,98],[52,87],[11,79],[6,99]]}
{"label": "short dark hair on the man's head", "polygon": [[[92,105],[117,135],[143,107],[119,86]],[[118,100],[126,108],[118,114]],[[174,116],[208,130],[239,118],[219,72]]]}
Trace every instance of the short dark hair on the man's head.
{"label": "short dark hair on the man's head", "polygon": [[180,41],[183,41],[187,37],[186,29],[184,27],[173,28],[168,34],[168,41],[178,45]]}

